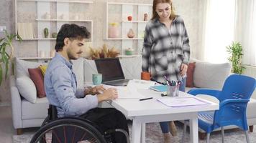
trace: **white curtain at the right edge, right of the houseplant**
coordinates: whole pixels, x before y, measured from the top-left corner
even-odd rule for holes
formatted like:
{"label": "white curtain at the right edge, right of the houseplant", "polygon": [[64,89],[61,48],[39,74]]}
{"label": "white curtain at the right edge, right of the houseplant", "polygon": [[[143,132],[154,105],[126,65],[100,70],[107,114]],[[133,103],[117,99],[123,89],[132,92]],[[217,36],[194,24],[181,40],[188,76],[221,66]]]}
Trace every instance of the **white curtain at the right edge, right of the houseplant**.
{"label": "white curtain at the right edge, right of the houseplant", "polygon": [[256,1],[237,0],[235,40],[243,47],[242,63],[256,66]]}

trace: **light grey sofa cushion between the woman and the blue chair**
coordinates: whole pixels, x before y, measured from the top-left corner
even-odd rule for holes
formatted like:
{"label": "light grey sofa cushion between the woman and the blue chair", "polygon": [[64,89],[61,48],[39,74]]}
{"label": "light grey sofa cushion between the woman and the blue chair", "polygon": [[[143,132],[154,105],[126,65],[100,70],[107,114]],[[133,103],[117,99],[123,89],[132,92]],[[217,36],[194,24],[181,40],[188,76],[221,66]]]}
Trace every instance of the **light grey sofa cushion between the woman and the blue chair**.
{"label": "light grey sofa cushion between the woman and the blue chair", "polygon": [[206,61],[196,61],[193,84],[200,88],[221,89],[230,71],[231,64],[229,63],[212,64]]}

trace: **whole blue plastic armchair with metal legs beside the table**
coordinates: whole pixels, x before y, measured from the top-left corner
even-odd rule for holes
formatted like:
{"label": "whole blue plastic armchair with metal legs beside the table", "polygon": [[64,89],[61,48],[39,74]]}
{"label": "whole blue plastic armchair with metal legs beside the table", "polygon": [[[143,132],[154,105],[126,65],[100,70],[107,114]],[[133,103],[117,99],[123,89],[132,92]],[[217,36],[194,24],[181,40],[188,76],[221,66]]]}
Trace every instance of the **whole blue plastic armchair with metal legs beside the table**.
{"label": "whole blue plastic armchair with metal legs beside the table", "polygon": [[[232,74],[224,82],[221,91],[212,89],[191,89],[188,94],[207,94],[219,99],[219,110],[213,112],[199,112],[198,126],[207,133],[209,142],[210,133],[221,127],[221,137],[224,143],[224,127],[236,125],[245,132],[247,143],[250,142],[248,137],[248,125],[246,117],[247,102],[250,101],[252,92],[256,87],[255,78],[239,74]],[[186,134],[186,125],[184,124],[183,141]]]}

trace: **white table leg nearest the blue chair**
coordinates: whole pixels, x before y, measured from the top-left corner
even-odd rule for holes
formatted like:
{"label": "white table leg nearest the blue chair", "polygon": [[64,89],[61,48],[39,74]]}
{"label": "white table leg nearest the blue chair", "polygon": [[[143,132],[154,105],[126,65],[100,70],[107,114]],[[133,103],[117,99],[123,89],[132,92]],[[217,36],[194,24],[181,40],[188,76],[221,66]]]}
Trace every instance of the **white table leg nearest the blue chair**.
{"label": "white table leg nearest the blue chair", "polygon": [[197,118],[190,119],[190,135],[191,142],[198,143],[198,120]]}

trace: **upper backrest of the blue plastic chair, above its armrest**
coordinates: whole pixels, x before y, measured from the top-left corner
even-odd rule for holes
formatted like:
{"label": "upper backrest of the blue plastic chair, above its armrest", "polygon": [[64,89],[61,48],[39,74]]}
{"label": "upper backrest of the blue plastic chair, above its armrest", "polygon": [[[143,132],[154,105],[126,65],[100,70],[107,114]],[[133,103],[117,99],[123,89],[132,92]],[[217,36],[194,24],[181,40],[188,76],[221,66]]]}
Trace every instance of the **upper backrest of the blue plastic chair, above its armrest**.
{"label": "upper backrest of the blue plastic chair, above its armrest", "polygon": [[224,82],[219,102],[224,99],[250,99],[256,87],[255,78],[232,74]]}

